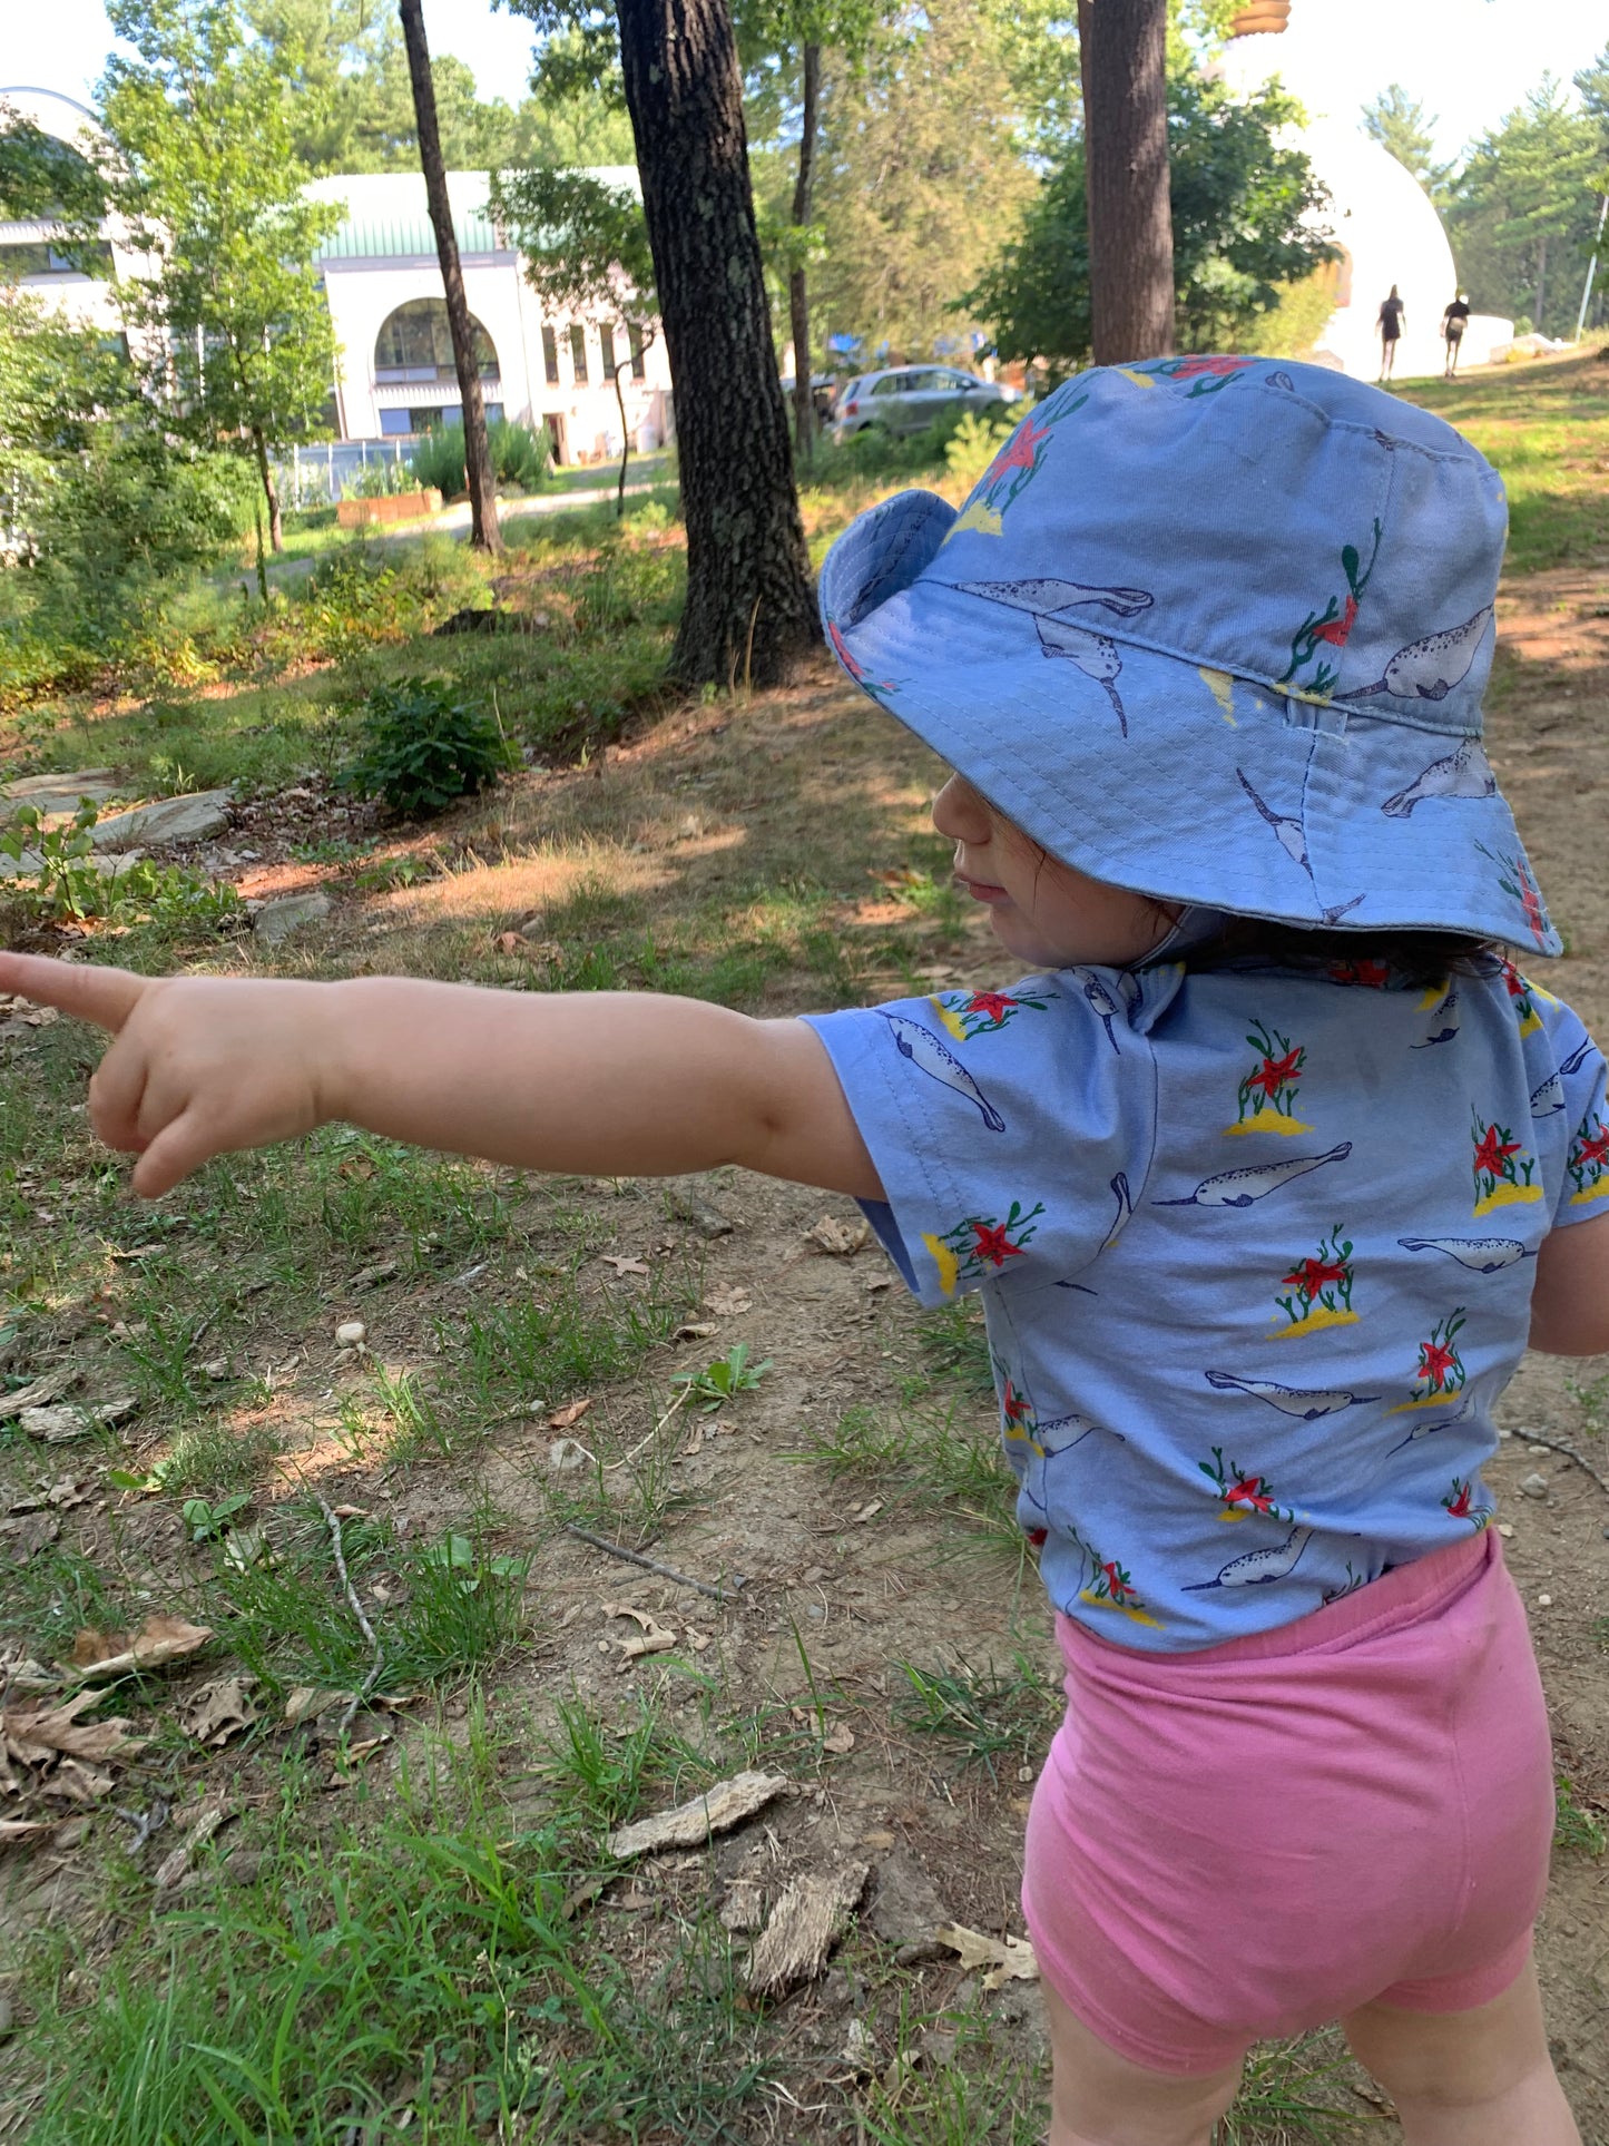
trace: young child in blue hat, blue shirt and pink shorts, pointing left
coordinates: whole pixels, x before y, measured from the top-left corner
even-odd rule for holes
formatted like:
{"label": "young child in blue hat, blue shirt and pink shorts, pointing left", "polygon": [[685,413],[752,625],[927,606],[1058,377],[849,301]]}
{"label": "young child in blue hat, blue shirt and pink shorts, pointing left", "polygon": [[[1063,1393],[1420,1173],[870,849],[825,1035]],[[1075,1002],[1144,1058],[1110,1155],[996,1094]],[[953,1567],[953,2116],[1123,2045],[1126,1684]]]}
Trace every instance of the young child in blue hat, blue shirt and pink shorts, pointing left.
{"label": "young child in blue hat, blue shirt and pink shorts, pointing left", "polygon": [[1409,2146],[1570,2146],[1530,1964],[1551,1766],[1480,1466],[1527,1339],[1609,1348],[1605,1060],[1480,749],[1502,489],[1298,365],[1081,373],[965,509],[862,515],[845,670],[1032,974],[807,1021],[656,996],[142,981],[159,1195],[345,1118],[560,1172],[744,1163],[983,1292],[1068,1715],[1023,1908],[1056,2146],[1206,2146],[1251,2041],[1343,2019]]}

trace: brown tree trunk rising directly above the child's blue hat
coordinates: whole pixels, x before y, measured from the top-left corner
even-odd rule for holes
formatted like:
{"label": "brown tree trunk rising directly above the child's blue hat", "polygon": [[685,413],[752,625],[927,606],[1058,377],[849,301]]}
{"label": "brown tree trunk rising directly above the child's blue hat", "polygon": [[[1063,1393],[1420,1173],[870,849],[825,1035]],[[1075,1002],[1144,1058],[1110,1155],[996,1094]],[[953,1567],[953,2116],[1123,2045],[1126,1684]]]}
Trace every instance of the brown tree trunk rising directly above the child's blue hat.
{"label": "brown tree trunk rising directly above the child's blue hat", "polygon": [[1079,0],[1094,363],[1173,348],[1167,0]]}

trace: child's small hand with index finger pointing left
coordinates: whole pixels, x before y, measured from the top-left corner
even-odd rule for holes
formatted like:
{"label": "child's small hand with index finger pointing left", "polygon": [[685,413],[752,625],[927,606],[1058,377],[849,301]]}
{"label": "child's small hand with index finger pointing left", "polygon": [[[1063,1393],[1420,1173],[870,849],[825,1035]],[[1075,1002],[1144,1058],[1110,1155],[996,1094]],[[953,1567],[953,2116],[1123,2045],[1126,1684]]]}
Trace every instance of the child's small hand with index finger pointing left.
{"label": "child's small hand with index finger pointing left", "polygon": [[112,1034],[90,1082],[90,1125],[139,1157],[157,1200],[212,1155],[294,1140],[333,1112],[326,983],[133,976],[0,953],[0,991],[60,1006]]}

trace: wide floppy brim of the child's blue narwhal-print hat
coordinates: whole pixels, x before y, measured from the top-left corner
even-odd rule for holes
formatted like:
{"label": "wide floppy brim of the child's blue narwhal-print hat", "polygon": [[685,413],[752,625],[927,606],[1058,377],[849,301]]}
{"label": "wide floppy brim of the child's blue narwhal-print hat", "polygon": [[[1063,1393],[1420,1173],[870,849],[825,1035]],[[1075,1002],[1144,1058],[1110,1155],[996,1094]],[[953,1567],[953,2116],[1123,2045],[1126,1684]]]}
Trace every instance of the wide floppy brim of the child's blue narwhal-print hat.
{"label": "wide floppy brim of the child's blue narwhal-print hat", "polygon": [[931,491],[860,515],[822,569],[828,642],[1051,856],[1244,916],[1562,951],[1478,738],[935,579],[955,519]]}

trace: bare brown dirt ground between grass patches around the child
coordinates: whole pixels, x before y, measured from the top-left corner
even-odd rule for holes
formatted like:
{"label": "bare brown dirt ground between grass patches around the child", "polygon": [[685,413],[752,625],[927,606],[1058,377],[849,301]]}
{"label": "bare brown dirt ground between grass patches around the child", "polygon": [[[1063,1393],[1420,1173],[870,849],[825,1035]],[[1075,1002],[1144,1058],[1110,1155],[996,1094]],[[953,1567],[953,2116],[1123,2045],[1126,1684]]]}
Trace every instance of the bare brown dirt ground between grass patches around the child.
{"label": "bare brown dirt ground between grass patches around the child", "polygon": [[[1609,562],[1508,584],[1500,633],[1491,760],[1568,942],[1568,957],[1547,981],[1605,1037]],[[839,903],[835,929],[845,946],[860,949],[856,979],[867,996],[910,989],[912,976],[922,979],[918,987],[1000,983],[980,923],[965,927],[959,949],[935,934],[914,957],[880,953],[899,903],[897,891],[867,873],[897,871],[899,843],[922,826],[931,773],[918,747],[826,674],[747,708],[695,710],[611,749],[592,768],[532,775],[466,818],[461,846],[498,850],[496,863],[466,861],[451,878],[360,901],[333,886],[337,914],[318,961],[328,970],[333,959],[348,972],[384,968],[395,934],[410,949],[423,946],[423,966],[436,972],[453,972],[455,964],[485,972],[485,949],[500,931],[581,884],[646,895],[656,918],[674,921],[695,914],[734,878],[785,882],[792,871],[865,886]],[[247,893],[285,893],[320,878],[272,854],[236,876]],[[519,959],[517,951],[508,955],[508,981],[517,981]],[[809,1004],[807,981],[779,979],[774,1011]],[[656,1185],[596,1185],[577,1193],[577,1204],[614,1258],[648,1266],[669,1245],[702,1260],[699,1346],[725,1352],[747,1341],[755,1356],[772,1358],[774,1369],[742,1408],[684,1438],[674,1461],[678,1504],[652,1545],[654,1558],[723,1584],[729,1599],[691,1594],[558,1537],[541,1564],[541,1637],[498,1672],[500,1700],[530,1702],[541,1713],[553,1691],[575,1689],[599,1706],[629,1704],[637,1682],[652,1680],[654,1663],[622,1667],[618,1652],[603,1652],[616,1629],[601,1612],[607,1601],[650,1612],[682,1635],[691,1627],[689,1644],[708,1640],[697,1659],[732,1704],[794,1693],[804,1708],[826,1706],[850,1732],[852,1743],[839,1738],[847,1747],[820,1783],[774,1805],[764,1826],[740,1828],[708,1858],[669,1858],[616,1882],[603,1912],[616,1942],[637,1942],[644,1957],[678,1904],[706,1899],[712,1886],[729,1897],[738,1880],[753,1880],[774,1899],[789,1873],[841,1861],[871,1865],[869,1901],[875,1910],[880,1893],[888,1895],[888,1929],[899,1923],[901,1886],[916,1882],[910,1858],[948,1916],[980,1931],[1019,1934],[1032,1764],[1019,1766],[1013,1753],[993,1773],[961,1768],[955,1747],[901,1725],[895,1700],[905,1682],[901,1661],[987,1672],[1010,1667],[1025,1650],[1049,1680],[1053,1646],[1032,1567],[955,1511],[935,1517],[897,1476],[835,1481],[820,1459],[802,1459],[845,1412],[871,1408],[888,1416],[892,1388],[903,1380],[910,1391],[927,1376],[914,1315],[888,1285],[875,1247],[835,1255],[807,1236],[824,1215],[852,1225],[852,1204],[742,1174],[702,1180],[702,1195],[729,1230],[704,1236],[674,1215],[667,1221]],[[395,1288],[367,1294],[354,1309],[369,1322],[375,1356],[408,1361],[429,1305]],[[264,1358],[298,1339],[277,1333],[268,1309],[262,1322],[251,1346]],[[1579,1446],[1609,1476],[1607,1442],[1594,1436],[1573,1391],[1605,1371],[1609,1361],[1527,1358],[1502,1406],[1510,1436],[1489,1470],[1506,1556],[1532,1614],[1558,1766],[1575,1800],[1600,1813],[1609,1811],[1609,1494],[1527,1434]],[[983,1425],[991,1412],[985,1397],[957,1397],[955,1386],[946,1393],[968,1423]],[[652,1403],[641,1384],[599,1391],[575,1436],[588,1438],[594,1427],[607,1429],[611,1451],[650,1429]],[[532,1528],[549,1524],[551,1440],[545,1421],[528,1421],[496,1434],[483,1455],[487,1489],[513,1532],[521,1517]],[[330,1498],[339,1489],[414,1526],[427,1526],[448,1496],[429,1468],[405,1481],[354,1472],[345,1455],[320,1446],[311,1416],[290,1472],[320,1481]],[[1534,1472],[1547,1479],[1542,1498],[1519,1494],[1521,1476]],[[1034,1734],[1038,1758],[1049,1728]],[[24,1921],[60,1914],[71,1899],[71,1873],[41,1856],[30,1882],[13,1884],[9,1912]],[[935,2011],[976,1998],[976,1979],[931,1951],[916,1944],[901,1970],[912,2002]],[[1583,2140],[1609,2146],[1609,1858],[1579,1848],[1558,1852],[1538,1953],[1555,2058]],[[772,2112],[755,2137],[845,2135],[835,2094],[850,2075],[850,2022],[867,2009],[862,1972],[860,1955],[850,1951],[781,2007],[785,2045],[815,2069],[813,2077],[789,2073],[794,2112]],[[989,2009],[1008,2045],[1028,2054],[1038,2047],[1040,2013],[1030,1985],[1008,1983]],[[1371,2118],[1369,2137],[1399,2135],[1360,2075],[1343,2086],[1343,2105]]]}

